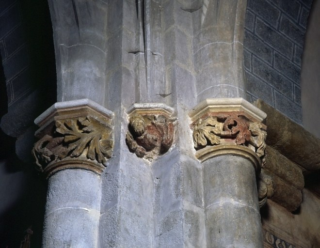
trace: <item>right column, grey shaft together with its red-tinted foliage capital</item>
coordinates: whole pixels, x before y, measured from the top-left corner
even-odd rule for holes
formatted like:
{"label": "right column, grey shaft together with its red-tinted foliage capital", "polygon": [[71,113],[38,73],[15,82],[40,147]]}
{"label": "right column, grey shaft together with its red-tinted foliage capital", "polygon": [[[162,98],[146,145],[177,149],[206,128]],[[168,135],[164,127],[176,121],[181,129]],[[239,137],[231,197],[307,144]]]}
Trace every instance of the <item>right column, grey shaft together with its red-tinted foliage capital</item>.
{"label": "right column, grey shaft together with its red-tinted foliage capital", "polygon": [[203,163],[207,247],[262,247],[256,176],[266,114],[242,98],[207,99],[190,112]]}

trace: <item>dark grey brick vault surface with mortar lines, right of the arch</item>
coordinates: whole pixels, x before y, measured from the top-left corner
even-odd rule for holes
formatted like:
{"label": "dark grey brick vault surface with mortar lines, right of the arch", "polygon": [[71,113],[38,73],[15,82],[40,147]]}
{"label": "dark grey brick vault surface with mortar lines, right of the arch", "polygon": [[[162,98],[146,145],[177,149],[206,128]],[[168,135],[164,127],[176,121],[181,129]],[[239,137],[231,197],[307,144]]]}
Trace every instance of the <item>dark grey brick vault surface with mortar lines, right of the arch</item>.
{"label": "dark grey brick vault surface with mortar lines, right of the arch", "polygon": [[300,71],[312,0],[248,0],[244,37],[247,98],[263,99],[302,124]]}

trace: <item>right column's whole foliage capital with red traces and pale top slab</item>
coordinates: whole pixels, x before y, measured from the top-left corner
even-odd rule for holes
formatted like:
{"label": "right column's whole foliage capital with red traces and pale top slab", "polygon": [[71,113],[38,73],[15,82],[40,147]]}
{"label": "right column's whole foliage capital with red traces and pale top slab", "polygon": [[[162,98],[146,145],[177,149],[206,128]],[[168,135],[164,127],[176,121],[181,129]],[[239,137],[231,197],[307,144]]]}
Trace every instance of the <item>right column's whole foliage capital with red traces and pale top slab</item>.
{"label": "right column's whole foliage capital with red traces and pale top slab", "polygon": [[195,156],[201,161],[238,155],[252,161],[259,173],[264,162],[266,114],[243,98],[206,99],[189,113]]}

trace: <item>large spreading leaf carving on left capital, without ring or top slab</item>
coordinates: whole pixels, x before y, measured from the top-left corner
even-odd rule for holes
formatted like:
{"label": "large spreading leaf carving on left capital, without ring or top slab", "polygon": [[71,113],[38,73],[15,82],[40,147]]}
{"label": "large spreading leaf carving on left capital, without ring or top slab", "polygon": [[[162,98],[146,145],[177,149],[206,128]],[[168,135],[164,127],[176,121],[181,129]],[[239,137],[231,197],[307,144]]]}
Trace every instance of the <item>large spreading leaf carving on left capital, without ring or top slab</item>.
{"label": "large spreading leaf carving on left capital, without ring or top slab", "polygon": [[80,156],[102,164],[112,155],[110,135],[111,128],[91,116],[57,120],[52,136],[37,141],[32,154],[40,171],[51,162]]}

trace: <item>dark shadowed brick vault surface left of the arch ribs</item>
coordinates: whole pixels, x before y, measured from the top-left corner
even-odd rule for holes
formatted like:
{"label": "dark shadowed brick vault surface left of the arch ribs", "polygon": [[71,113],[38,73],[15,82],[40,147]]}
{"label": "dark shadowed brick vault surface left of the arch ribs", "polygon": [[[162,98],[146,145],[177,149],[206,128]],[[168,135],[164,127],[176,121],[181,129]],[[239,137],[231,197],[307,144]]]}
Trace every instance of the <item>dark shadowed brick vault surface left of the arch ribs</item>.
{"label": "dark shadowed brick vault surface left of the arch ribs", "polygon": [[[7,94],[1,130],[19,137],[56,102],[56,70],[48,2],[2,0],[0,53]],[[2,87],[3,88],[3,87]],[[2,93],[3,94],[3,93]],[[39,104],[41,103],[41,104]]]}

